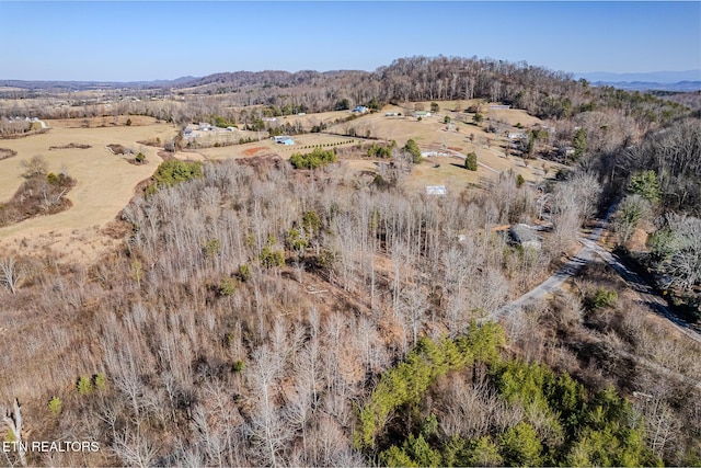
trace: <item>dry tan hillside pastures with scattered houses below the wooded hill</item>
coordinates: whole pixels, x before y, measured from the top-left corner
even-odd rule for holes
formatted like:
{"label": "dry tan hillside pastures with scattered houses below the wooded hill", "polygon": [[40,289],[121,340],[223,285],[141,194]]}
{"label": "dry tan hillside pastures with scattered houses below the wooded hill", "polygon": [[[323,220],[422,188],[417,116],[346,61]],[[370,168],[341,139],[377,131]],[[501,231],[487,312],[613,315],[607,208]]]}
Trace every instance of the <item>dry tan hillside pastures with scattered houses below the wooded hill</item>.
{"label": "dry tan hillside pastures with scattered houses below the wooded hill", "polygon": [[[359,116],[350,122],[343,122],[330,125],[327,132],[343,134],[348,128],[354,128],[358,135],[365,136],[369,132],[371,137],[379,138],[380,142],[397,140],[399,146],[403,146],[406,140],[414,139],[422,150],[443,150],[446,148],[460,148],[461,153],[475,151],[479,161],[486,165],[480,165],[476,172],[466,171],[462,168],[463,159],[460,157],[432,157],[422,164],[416,165],[412,174],[406,180],[410,191],[423,192],[426,185],[446,185],[451,192],[460,193],[466,189],[479,186],[484,180],[489,180],[503,171],[513,170],[516,174],[520,174],[527,181],[538,182],[547,176],[553,176],[562,165],[543,160],[531,160],[528,165],[518,157],[504,157],[504,145],[506,145],[503,135],[495,135],[485,132],[485,127],[463,124],[458,122],[462,119],[470,122],[472,114],[462,112],[453,112],[456,107],[464,110],[476,101],[452,101],[438,102],[441,111],[438,114],[423,118],[421,122],[413,117],[406,117],[405,109],[397,105],[387,105],[381,111]],[[425,109],[430,109],[430,102],[423,103]],[[413,105],[412,105],[413,106]],[[491,117],[501,119],[510,125],[520,123],[522,125],[532,126],[542,124],[536,117],[529,116],[525,111],[490,111]],[[386,116],[387,113],[401,113],[402,116]],[[286,121],[295,123],[299,121],[302,125],[309,127],[319,123],[333,123],[337,118],[345,118],[352,115],[348,111],[326,112],[321,114],[310,114],[303,116],[278,117],[278,123]],[[452,132],[446,129],[444,117],[448,115],[456,126]],[[456,130],[457,128],[457,130]],[[472,138],[471,138],[472,137]],[[343,144],[340,147],[357,145],[364,141],[371,141],[364,138],[352,138],[340,135],[330,134],[307,134],[295,136],[295,146],[276,145],[269,139],[262,139],[245,145],[228,146],[222,148],[206,148],[188,151],[186,153],[176,155],[181,159],[207,160],[207,159],[242,159],[260,156],[277,156],[283,159],[299,151],[304,151],[303,147],[315,145]],[[491,140],[490,147],[486,146],[487,138]],[[345,141],[352,140],[349,144]],[[346,179],[350,180],[364,171],[377,172],[377,161],[368,161],[363,158],[350,159],[343,158],[344,172],[347,172]],[[543,164],[548,174],[543,171]],[[436,168],[436,165],[439,165]]]}

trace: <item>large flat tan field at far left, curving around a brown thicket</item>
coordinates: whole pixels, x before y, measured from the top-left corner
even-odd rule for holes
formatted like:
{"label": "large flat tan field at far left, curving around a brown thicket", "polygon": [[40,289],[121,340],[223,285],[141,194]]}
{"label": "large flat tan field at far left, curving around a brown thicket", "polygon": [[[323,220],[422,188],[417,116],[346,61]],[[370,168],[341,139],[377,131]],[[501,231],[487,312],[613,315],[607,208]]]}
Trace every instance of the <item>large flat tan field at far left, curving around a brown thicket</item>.
{"label": "large flat tan field at far left, curving around a brown thicket", "polygon": [[[21,161],[42,155],[48,163],[49,172],[66,169],[78,181],[67,197],[73,206],[66,212],[27,219],[16,225],[0,228],[0,249],[16,250],[20,253],[37,251],[33,246],[39,239],[50,240],[60,253],[70,246],[68,239],[85,238],[87,231],[106,226],[134,196],[136,185],[153,174],[162,161],[158,148],[141,146],[137,141],[160,137],[173,138],[176,128],[168,124],[133,125],[129,127],[66,128],[54,126],[51,130],[26,138],[2,140],[5,148],[18,151],[16,157],[0,160],[0,201],[9,199],[22,183]],[[88,149],[49,150],[51,146],[70,144],[90,145]],[[125,157],[115,156],[106,145],[118,144],[147,157],[147,163],[135,165]],[[82,232],[85,230],[85,232]],[[57,236],[65,242],[54,241]],[[85,246],[92,241],[84,239]],[[73,246],[74,247],[74,246]],[[49,246],[50,248],[50,246]]]}

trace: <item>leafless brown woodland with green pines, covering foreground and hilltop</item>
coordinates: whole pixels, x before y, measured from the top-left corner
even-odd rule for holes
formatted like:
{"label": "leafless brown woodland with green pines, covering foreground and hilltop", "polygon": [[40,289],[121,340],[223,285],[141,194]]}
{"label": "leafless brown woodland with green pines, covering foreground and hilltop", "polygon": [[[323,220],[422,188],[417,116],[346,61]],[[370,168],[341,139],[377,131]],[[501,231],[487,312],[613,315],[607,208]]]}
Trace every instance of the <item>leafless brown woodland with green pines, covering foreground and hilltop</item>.
{"label": "leafless brown woodland with green pines, covering foreground and hilltop", "polygon": [[[379,169],[391,183],[346,183],[331,157],[315,169],[301,156],[299,169],[166,161],[110,227],[120,247],[100,262],[0,255],[0,285],[12,286],[0,289],[5,440],[31,431],[101,447],[24,461],[701,465],[701,346],[669,332],[602,263],[566,292],[489,320],[558,267],[579,228],[612,204],[621,255],[698,320],[698,113],[476,58],[194,84],[205,94],[119,112],[186,122],[234,102],[311,112],[344,99],[481,98],[553,123],[578,152],[548,186],[504,172],[445,197],[405,190],[421,161],[398,147]],[[493,229],[543,210],[552,232],[541,251]],[[642,253],[630,243],[636,230],[651,235]]]}

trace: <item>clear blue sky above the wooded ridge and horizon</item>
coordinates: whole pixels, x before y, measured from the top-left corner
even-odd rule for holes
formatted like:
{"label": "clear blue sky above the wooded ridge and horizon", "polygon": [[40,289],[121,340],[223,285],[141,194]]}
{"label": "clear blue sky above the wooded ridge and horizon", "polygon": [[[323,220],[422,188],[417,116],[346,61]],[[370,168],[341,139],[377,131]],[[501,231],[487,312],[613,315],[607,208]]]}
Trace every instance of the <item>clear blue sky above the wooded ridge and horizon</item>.
{"label": "clear blue sky above the wooded ridge and horizon", "polygon": [[375,70],[399,57],[567,72],[701,68],[701,2],[0,0],[0,79]]}

